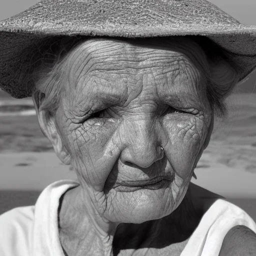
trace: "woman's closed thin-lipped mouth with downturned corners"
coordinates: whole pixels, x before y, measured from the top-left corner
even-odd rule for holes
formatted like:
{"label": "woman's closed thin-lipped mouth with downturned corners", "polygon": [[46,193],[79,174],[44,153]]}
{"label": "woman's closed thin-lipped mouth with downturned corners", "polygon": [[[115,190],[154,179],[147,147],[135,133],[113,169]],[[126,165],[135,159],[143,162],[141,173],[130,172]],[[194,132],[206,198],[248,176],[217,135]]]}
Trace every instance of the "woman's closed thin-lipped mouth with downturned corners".
{"label": "woman's closed thin-lipped mouth with downturned corners", "polygon": [[132,192],[140,189],[156,190],[168,187],[173,179],[173,176],[159,176],[147,180],[122,181],[118,182],[114,189],[119,192]]}

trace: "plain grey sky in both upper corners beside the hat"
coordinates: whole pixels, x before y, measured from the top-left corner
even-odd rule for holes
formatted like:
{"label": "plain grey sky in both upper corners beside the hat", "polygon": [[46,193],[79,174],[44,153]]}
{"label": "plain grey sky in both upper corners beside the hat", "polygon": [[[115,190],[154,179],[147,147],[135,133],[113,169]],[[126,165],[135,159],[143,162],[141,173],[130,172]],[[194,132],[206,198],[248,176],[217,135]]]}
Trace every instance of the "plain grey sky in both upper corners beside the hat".
{"label": "plain grey sky in both upper corners beside the hat", "polygon": [[[0,0],[0,20],[17,14],[38,0]],[[210,0],[245,24],[256,24],[256,0]]]}

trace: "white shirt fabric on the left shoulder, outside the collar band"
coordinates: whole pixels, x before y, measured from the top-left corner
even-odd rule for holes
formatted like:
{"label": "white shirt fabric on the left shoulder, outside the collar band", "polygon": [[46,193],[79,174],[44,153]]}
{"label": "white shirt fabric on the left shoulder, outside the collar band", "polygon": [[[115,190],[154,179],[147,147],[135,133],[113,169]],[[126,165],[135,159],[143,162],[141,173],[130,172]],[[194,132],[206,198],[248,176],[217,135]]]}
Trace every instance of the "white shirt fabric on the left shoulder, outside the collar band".
{"label": "white shirt fabric on the left shoulder, outside the collar band", "polygon": [[34,206],[13,208],[0,215],[0,255],[28,255]]}

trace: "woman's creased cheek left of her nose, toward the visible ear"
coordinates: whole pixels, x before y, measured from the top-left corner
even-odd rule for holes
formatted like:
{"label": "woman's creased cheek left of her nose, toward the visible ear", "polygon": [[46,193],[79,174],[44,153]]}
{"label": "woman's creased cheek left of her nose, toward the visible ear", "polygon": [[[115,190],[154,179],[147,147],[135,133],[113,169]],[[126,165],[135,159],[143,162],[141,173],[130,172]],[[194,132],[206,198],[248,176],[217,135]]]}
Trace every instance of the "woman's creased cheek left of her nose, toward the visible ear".
{"label": "woman's creased cheek left of her nose, toward the visible ear", "polygon": [[[75,127],[69,136],[72,166],[81,182],[102,190],[114,160],[111,137],[117,122],[111,118],[91,119]],[[111,147],[113,147],[111,149]],[[106,155],[107,154],[107,155]],[[113,157],[112,157],[113,158]]]}

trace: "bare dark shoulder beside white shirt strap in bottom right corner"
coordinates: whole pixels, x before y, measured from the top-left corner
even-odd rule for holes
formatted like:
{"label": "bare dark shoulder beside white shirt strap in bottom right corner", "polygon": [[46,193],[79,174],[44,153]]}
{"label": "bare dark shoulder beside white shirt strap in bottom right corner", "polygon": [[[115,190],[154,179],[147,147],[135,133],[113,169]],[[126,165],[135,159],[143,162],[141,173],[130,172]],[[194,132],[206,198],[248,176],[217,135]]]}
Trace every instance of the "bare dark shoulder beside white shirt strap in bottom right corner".
{"label": "bare dark shoulder beside white shirt strap in bottom right corner", "polygon": [[256,233],[250,228],[237,225],[232,227],[223,239],[219,256],[256,254]]}

